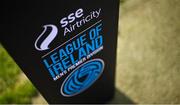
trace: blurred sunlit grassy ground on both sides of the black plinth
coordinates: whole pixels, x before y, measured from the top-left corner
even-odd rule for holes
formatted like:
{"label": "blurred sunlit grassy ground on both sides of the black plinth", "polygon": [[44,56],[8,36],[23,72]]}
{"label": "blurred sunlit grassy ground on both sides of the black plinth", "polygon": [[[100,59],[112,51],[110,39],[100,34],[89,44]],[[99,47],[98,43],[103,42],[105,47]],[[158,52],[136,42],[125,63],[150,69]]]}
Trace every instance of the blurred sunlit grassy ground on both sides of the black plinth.
{"label": "blurred sunlit grassy ground on both sides of the black plinth", "polygon": [[[121,3],[117,89],[134,103],[180,104],[180,0]],[[1,45],[0,103],[46,103]]]}

